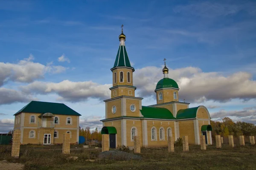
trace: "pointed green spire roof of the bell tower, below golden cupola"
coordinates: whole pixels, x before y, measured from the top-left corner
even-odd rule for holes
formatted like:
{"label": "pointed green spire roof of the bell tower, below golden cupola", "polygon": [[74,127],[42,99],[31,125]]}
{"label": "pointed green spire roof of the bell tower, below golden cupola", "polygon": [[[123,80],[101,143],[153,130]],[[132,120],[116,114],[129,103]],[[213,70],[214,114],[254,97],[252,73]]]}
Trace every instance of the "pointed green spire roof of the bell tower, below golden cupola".
{"label": "pointed green spire roof of the bell tower, below golden cupola", "polygon": [[[118,48],[118,51],[116,54],[115,64],[114,64],[113,68],[115,68],[115,67],[128,67],[128,68],[133,69],[133,71],[134,71],[134,68],[131,66],[125,45],[119,45],[119,48]],[[113,68],[111,68],[111,69],[113,69]]]}

